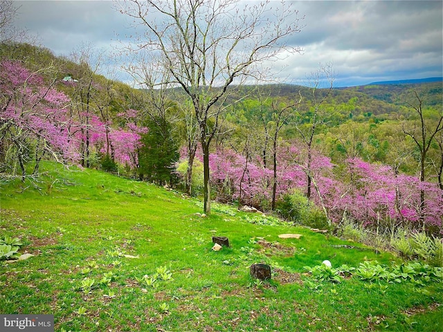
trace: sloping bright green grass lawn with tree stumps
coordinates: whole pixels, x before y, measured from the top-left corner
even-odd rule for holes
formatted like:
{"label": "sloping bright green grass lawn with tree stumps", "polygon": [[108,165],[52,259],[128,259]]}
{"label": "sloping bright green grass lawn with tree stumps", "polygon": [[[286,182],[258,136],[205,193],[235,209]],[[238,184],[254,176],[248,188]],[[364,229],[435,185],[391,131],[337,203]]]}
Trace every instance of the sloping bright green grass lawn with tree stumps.
{"label": "sloping bright green grass lawn with tree stumps", "polygon": [[[0,237],[20,237],[25,261],[0,262],[0,313],[55,315],[56,331],[439,331],[443,282],[315,282],[324,259],[357,268],[377,260],[359,243],[273,218],[201,204],[179,192],[90,169],[44,163],[39,182],[1,185]],[[279,239],[295,232],[301,239]],[[212,236],[231,248],[211,250]],[[260,244],[260,239],[268,242]],[[347,244],[359,248],[340,248]],[[138,258],[126,258],[122,255]],[[273,267],[270,282],[248,269]],[[164,266],[172,279],[155,275]],[[275,271],[292,275],[284,282]],[[110,282],[100,282],[105,274]],[[147,286],[144,275],[156,277]],[[84,289],[84,279],[94,280]],[[315,287],[308,285],[314,284]]]}

